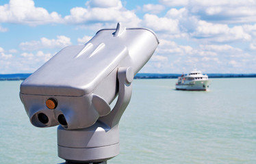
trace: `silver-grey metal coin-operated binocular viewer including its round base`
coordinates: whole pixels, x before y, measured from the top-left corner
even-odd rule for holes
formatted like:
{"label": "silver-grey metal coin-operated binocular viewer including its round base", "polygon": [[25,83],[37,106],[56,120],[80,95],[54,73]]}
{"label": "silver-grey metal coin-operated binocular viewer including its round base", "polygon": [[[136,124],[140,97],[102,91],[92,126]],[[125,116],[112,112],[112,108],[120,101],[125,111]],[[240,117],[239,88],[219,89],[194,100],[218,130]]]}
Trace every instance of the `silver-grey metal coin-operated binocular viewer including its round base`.
{"label": "silver-grey metal coin-operated binocular viewer including its round base", "polygon": [[118,155],[118,123],[131,99],[131,82],[158,44],[153,31],[118,23],[116,29],[98,31],[84,46],[66,46],[21,83],[31,124],[60,125],[60,158],[106,163]]}

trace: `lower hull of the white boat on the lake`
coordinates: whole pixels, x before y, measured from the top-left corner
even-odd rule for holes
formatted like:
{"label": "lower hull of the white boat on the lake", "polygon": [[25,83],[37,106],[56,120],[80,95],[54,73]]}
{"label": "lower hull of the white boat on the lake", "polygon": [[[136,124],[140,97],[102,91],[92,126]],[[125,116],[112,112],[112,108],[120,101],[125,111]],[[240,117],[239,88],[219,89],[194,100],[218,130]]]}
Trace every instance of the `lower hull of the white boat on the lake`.
{"label": "lower hull of the white boat on the lake", "polygon": [[209,81],[192,81],[190,83],[176,84],[176,90],[207,91]]}

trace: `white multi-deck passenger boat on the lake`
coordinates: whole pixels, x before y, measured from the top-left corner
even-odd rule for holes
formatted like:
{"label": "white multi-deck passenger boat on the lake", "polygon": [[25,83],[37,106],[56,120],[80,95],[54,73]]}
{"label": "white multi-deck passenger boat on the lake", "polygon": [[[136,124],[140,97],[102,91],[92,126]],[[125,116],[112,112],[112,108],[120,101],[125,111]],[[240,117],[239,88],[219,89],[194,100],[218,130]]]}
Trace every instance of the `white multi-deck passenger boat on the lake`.
{"label": "white multi-deck passenger boat on the lake", "polygon": [[189,74],[182,74],[176,83],[176,90],[209,90],[209,80],[207,74],[202,74],[199,70],[193,70]]}

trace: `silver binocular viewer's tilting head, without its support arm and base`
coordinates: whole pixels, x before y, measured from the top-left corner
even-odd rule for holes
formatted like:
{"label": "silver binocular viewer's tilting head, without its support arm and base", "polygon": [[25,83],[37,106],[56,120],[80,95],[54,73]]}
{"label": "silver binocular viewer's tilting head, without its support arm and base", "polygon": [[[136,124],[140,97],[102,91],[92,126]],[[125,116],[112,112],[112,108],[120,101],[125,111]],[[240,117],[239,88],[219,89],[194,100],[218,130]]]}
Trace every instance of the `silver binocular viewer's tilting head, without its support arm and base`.
{"label": "silver binocular viewer's tilting head, without its support arm and base", "polygon": [[[118,69],[129,68],[129,79],[146,64],[158,44],[149,29],[103,29],[85,46],[67,46],[21,83],[21,100],[31,124],[49,127],[64,115],[67,129],[87,128],[110,113],[118,94]],[[53,98],[57,107],[48,109]],[[40,122],[44,114],[48,122]]]}

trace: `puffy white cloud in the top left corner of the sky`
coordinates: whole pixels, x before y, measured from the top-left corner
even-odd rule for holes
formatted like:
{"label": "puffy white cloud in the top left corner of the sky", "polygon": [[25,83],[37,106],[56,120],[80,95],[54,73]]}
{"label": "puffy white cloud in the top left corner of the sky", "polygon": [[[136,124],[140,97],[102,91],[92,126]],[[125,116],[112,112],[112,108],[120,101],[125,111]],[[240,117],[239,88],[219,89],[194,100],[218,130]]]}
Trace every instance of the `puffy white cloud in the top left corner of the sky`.
{"label": "puffy white cloud in the top left corner of the sky", "polygon": [[0,22],[21,23],[31,26],[45,23],[61,23],[57,12],[49,13],[44,8],[36,8],[33,0],[10,0],[9,4],[0,6]]}

